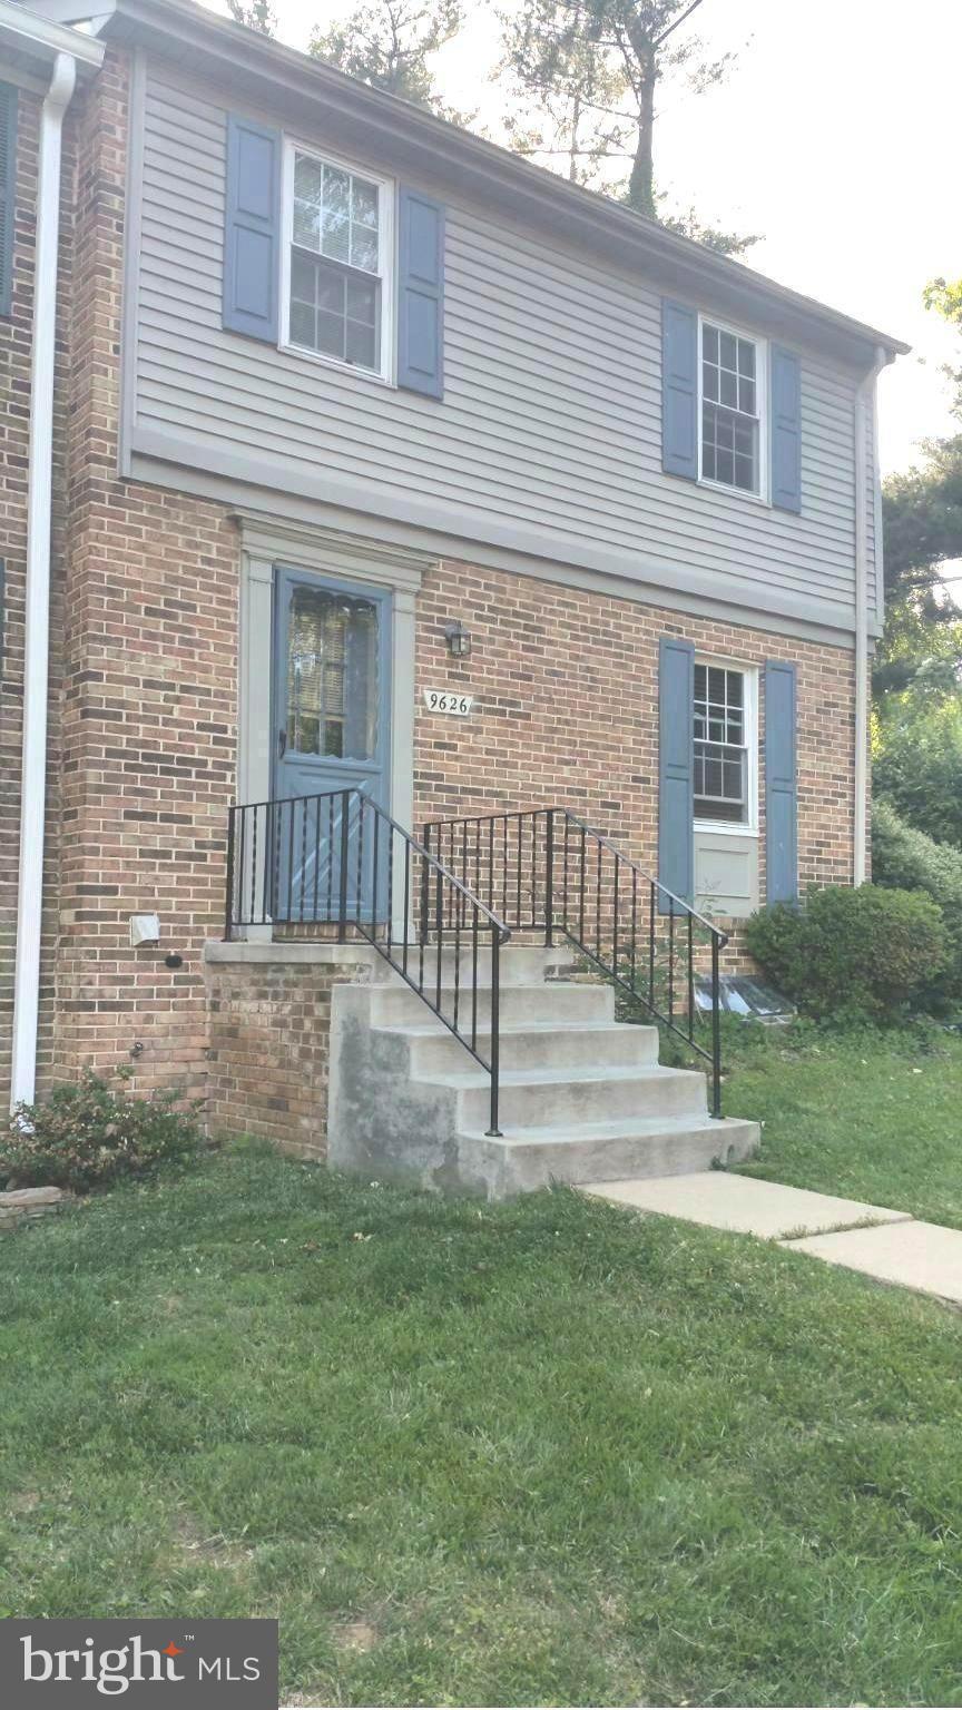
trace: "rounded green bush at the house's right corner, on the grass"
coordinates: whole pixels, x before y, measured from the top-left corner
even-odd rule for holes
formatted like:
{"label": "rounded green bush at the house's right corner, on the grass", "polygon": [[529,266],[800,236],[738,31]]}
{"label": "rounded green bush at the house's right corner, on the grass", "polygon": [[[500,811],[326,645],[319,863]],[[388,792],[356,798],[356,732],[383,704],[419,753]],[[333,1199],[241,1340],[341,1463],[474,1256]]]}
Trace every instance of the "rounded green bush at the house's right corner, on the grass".
{"label": "rounded green bush at the house's right corner, on the grass", "polygon": [[818,1019],[894,1019],[947,963],[938,906],[917,891],[827,886],[803,908],[775,903],[745,934],[755,961]]}

